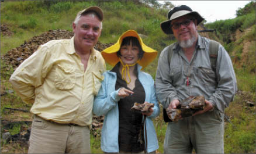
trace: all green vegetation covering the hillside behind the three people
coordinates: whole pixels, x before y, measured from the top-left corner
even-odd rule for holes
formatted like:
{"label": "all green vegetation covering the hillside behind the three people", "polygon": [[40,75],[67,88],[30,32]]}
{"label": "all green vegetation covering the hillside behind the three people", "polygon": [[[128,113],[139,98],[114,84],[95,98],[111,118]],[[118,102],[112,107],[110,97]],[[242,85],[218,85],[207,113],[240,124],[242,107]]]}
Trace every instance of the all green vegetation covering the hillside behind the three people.
{"label": "all green vegetation covering the hillside behind the three people", "polygon": [[[151,1],[152,7],[140,1],[5,1],[1,3],[1,24],[5,24],[13,32],[11,36],[1,34],[1,56],[12,48],[16,48],[35,35],[48,30],[64,29],[72,31],[72,21],[79,10],[91,5],[103,9],[103,31],[100,42],[116,42],[126,30],[133,29],[143,34],[143,41],[159,53],[174,42],[172,35],[161,31],[160,23],[167,20],[171,3],[160,6]],[[248,107],[247,101],[255,103],[255,1],[237,10],[237,17],[229,20],[219,20],[206,24],[207,28],[216,29],[217,33],[210,33],[210,38],[217,38],[229,52],[233,60],[238,82],[238,89],[243,91],[236,95],[234,102],[226,109],[230,122],[225,124],[224,149],[225,153],[256,153],[255,150],[255,106]],[[108,66],[110,69],[110,66]],[[155,77],[157,59],[145,71]],[[11,66],[1,60],[1,92],[8,94],[1,96],[2,117],[9,119],[27,118],[30,114],[9,114],[4,110],[9,108],[30,109],[31,105],[22,100],[12,91],[9,77],[13,73]],[[2,93],[1,93],[2,94]],[[160,149],[163,152],[164,135],[167,124],[162,115],[154,120]],[[13,127],[10,132],[15,134],[19,130]],[[1,132],[4,132],[1,129]],[[6,144],[1,146],[9,151],[2,153],[26,153],[27,149],[20,144]],[[13,149],[11,149],[13,147]],[[100,137],[91,135],[92,153],[102,153]]]}

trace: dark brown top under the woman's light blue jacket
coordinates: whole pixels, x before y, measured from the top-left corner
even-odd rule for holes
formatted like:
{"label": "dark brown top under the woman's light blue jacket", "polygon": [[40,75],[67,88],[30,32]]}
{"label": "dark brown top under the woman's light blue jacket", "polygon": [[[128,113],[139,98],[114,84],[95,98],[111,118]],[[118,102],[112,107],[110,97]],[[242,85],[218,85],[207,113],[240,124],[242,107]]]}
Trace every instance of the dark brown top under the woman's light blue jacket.
{"label": "dark brown top under the woman's light blue jacket", "polygon": [[[135,81],[134,89],[127,87],[126,81],[122,80],[119,73],[120,62],[111,70],[117,74],[115,89],[126,88],[134,92],[133,95],[126,96],[118,102],[119,109],[119,151],[130,153],[138,153],[144,151],[144,137],[143,137],[143,115],[140,112],[131,110],[134,102],[145,102],[145,91],[138,78]],[[134,73],[138,76],[137,65]]]}

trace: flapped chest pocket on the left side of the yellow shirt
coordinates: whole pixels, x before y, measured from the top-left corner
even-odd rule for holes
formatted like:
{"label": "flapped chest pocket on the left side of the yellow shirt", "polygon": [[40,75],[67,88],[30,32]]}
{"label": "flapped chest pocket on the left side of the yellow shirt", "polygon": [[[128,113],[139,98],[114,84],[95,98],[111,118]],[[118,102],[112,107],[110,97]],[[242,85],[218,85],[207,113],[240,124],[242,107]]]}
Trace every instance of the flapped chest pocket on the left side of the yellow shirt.
{"label": "flapped chest pocket on the left side of the yellow shirt", "polygon": [[57,89],[68,90],[75,85],[75,68],[67,64],[58,64],[56,69],[55,86]]}

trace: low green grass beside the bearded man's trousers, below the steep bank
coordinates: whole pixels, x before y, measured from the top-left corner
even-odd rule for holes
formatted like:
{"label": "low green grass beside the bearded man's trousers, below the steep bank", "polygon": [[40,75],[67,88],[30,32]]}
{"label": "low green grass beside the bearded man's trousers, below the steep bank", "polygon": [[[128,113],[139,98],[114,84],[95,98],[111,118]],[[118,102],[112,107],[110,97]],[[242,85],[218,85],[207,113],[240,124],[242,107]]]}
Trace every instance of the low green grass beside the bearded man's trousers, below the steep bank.
{"label": "low green grass beside the bearded man's trousers, below the steep bank", "polygon": [[225,153],[256,152],[255,107],[248,107],[243,99],[243,97],[236,97],[226,109],[226,113],[231,117],[231,123],[225,126]]}

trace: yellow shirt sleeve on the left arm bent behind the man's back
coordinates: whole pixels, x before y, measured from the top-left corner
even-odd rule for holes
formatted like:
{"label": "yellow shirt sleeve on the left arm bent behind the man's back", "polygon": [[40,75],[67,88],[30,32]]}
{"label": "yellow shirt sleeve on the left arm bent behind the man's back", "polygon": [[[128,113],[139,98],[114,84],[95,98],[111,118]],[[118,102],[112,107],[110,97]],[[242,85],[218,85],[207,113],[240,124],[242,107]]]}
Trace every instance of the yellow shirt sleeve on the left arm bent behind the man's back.
{"label": "yellow shirt sleeve on the left arm bent behind the man's back", "polygon": [[51,67],[50,56],[47,46],[40,46],[10,77],[13,89],[24,102],[34,103],[34,89],[43,83]]}

